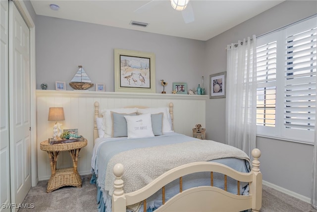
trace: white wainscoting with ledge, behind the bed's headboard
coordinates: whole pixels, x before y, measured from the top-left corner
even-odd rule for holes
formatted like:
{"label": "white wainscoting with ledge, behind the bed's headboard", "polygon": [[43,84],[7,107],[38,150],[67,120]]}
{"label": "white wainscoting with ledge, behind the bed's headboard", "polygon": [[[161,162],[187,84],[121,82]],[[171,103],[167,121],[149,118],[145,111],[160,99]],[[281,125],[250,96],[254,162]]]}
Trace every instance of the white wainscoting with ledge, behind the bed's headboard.
{"label": "white wainscoting with ledge, behind the bed's headboard", "polygon": [[[53,121],[48,121],[50,107],[63,107],[65,121],[59,121],[63,129],[78,129],[78,134],[88,140],[86,147],[79,152],[79,174],[90,174],[91,155],[94,147],[94,103],[100,104],[100,110],[120,108],[129,105],[148,107],[168,107],[174,104],[174,131],[192,136],[196,124],[206,127],[207,95],[160,94],[160,93],[119,93],[95,91],[36,91],[37,111],[37,156],[38,178],[49,179],[51,167],[48,154],[40,149],[40,142],[53,135]],[[60,152],[57,168],[71,167],[68,152]]]}

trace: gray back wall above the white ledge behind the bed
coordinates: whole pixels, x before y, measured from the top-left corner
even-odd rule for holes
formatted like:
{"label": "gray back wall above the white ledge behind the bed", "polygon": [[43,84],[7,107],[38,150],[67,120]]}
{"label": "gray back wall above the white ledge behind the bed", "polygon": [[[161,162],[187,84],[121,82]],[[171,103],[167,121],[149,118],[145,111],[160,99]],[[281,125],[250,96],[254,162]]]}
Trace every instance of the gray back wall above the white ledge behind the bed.
{"label": "gray back wall above the white ledge behind the bed", "polygon": [[[186,82],[188,88],[201,82],[205,42],[145,33],[98,24],[38,15],[36,18],[36,87],[46,82],[55,89],[55,81],[69,82],[82,65],[93,83],[106,84],[114,91],[113,49],[153,52],[156,55],[156,92],[173,82]],[[89,90],[95,90],[95,86]]]}

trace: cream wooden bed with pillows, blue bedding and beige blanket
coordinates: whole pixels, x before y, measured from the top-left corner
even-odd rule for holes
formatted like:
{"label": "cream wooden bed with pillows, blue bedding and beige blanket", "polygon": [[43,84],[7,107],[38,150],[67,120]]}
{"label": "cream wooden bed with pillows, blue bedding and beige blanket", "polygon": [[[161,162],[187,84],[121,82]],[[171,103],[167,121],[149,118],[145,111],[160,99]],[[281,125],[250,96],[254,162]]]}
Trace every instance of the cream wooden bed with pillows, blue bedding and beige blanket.
{"label": "cream wooden bed with pillows, blue bedding and beige blanket", "polygon": [[94,107],[91,183],[100,212],[260,211],[259,149],[251,162],[235,147],[173,132],[172,103]]}

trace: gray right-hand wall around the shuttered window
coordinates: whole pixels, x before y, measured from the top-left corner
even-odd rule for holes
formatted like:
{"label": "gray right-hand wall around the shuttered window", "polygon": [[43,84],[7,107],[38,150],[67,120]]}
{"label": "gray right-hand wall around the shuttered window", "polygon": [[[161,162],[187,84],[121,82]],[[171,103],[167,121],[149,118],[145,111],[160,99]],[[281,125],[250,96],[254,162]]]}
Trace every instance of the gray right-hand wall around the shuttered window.
{"label": "gray right-hand wall around the shuttered window", "polygon": [[[317,1],[288,0],[211,38],[206,43],[209,64],[204,75],[226,71],[227,44],[254,34],[262,35],[316,13]],[[206,116],[207,138],[225,142],[225,99],[207,100]],[[257,137],[257,147],[262,150],[260,169],[265,181],[311,197],[313,145]]]}

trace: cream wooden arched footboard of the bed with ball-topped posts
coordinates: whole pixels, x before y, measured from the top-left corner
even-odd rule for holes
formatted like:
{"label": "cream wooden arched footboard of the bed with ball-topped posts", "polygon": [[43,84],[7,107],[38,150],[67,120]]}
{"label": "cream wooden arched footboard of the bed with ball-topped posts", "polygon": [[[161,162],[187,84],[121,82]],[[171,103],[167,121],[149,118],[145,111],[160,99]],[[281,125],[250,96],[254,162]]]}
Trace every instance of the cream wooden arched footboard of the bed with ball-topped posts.
{"label": "cream wooden arched footboard of the bed with ball-topped posts", "polygon": [[[112,195],[112,212],[126,212],[126,206],[143,201],[144,211],[146,211],[146,199],[162,189],[163,205],[157,209],[157,212],[210,212],[210,211],[244,211],[252,209],[258,212],[262,206],[262,173],[260,172],[261,151],[252,150],[252,170],[249,173],[238,172],[228,166],[214,162],[194,162],[178,166],[160,175],[153,182],[145,187],[131,193],[124,193],[122,175],[124,167],[118,163],[113,168],[113,174],[116,176],[114,181],[114,192]],[[211,172],[211,186],[201,186],[182,191],[182,176],[196,172]],[[225,190],[212,186],[212,173],[224,174]],[[231,194],[226,191],[227,176],[238,181],[238,194],[240,182],[249,182],[249,195],[242,196]],[[165,202],[165,185],[179,178],[180,192]]]}

